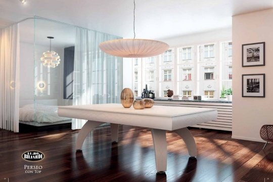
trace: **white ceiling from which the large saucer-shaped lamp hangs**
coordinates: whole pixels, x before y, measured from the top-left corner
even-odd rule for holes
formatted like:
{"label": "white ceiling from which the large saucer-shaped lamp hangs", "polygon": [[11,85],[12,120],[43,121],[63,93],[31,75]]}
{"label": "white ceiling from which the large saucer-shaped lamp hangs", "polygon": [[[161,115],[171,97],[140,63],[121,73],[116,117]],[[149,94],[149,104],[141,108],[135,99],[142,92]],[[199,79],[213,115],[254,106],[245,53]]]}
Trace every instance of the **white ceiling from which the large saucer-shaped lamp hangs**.
{"label": "white ceiling from which the large saucer-shaped lamp hangs", "polygon": [[[39,16],[133,37],[133,0],[0,0],[0,27]],[[163,39],[232,26],[232,16],[273,8],[271,0],[135,0],[136,38]]]}

